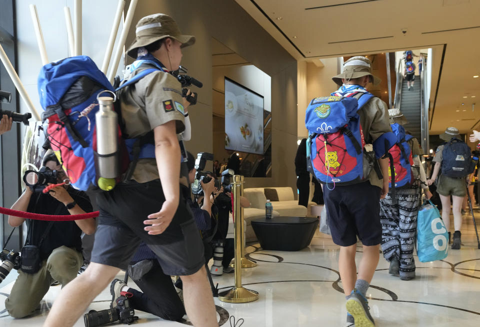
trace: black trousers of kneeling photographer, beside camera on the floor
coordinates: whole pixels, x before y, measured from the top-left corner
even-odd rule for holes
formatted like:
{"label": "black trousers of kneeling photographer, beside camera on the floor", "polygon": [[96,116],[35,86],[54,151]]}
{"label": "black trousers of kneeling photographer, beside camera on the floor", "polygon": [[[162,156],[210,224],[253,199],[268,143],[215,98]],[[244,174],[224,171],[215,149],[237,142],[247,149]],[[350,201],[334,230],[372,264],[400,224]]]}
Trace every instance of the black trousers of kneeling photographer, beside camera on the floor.
{"label": "black trousers of kneeling photographer, beside camera on the floor", "polygon": [[185,314],[185,307],[178,296],[170,276],[165,275],[157,260],[140,279],[133,280],[143,291],[129,288],[133,294],[130,303],[133,309],[148,312],[165,320],[178,321]]}

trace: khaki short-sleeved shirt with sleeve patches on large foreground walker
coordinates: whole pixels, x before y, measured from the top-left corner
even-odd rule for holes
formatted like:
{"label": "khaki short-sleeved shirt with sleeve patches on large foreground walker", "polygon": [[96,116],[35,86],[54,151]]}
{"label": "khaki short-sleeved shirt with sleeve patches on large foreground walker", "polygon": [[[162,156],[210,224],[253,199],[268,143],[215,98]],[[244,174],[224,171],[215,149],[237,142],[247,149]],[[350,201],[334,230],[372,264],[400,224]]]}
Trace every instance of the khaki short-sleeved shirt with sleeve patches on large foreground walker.
{"label": "khaki short-sleeved shirt with sleeve patches on large foreground walker", "polygon": [[[130,73],[127,79],[148,68],[156,67],[143,64]],[[135,84],[120,90],[119,98],[127,138],[144,135],[172,120],[175,121],[177,134],[185,129],[181,85],[169,73],[161,71],[150,73]],[[180,164],[180,158],[178,158],[178,164]],[[131,177],[138,183],[158,178],[155,158],[139,159]]]}

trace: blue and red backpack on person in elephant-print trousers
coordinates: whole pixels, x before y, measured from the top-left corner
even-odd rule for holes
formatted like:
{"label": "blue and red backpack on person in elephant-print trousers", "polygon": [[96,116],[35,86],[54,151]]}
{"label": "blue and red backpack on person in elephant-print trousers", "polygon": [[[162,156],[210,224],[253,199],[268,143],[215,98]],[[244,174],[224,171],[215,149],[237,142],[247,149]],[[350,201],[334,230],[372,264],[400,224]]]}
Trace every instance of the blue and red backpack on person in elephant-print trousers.
{"label": "blue and red backpack on person in elephant-print trousers", "polygon": [[[388,187],[402,187],[411,185],[414,182],[411,167],[413,166],[413,158],[411,149],[407,141],[413,136],[405,133],[403,126],[398,124],[390,124],[393,134],[396,135],[396,143],[388,150],[390,157],[390,165],[388,166]],[[392,176],[393,170],[393,176]]]}

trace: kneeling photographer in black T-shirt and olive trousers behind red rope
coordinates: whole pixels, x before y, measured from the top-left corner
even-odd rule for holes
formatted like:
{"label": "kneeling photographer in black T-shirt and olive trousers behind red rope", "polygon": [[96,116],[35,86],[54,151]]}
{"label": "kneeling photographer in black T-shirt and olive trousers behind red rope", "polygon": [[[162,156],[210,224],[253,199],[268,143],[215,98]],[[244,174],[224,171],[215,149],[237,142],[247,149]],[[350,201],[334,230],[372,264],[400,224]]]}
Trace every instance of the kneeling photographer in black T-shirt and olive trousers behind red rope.
{"label": "kneeling photographer in black T-shirt and olive trousers behind red rope", "polygon": [[[27,172],[27,186],[11,209],[48,215],[74,215],[91,212],[91,204],[84,192],[70,186],[56,186],[48,193],[41,190],[47,184],[67,179],[53,152],[47,152],[38,173]],[[31,179],[31,176],[35,179]],[[34,182],[33,182],[34,180]],[[62,287],[76,277],[83,257],[81,232],[95,231],[93,218],[75,221],[42,221],[8,216],[8,224],[20,226],[26,220],[27,237],[21,249],[21,266],[5,308],[14,318],[31,314],[57,281]]]}

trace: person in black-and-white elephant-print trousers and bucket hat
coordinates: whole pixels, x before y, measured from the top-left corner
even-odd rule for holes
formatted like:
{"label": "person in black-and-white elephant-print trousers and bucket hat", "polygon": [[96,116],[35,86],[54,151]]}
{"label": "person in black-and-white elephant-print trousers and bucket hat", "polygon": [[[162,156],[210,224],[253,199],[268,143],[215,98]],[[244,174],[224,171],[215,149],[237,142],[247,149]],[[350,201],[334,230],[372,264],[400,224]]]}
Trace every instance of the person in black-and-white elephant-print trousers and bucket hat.
{"label": "person in black-and-white elephant-print trousers and bucket hat", "polygon": [[[402,127],[398,125],[408,124],[403,113],[397,108],[388,109],[388,116],[393,131],[401,132]],[[420,189],[423,189],[427,199],[431,197],[420,161],[422,151],[416,138],[406,137],[406,133],[405,131],[406,143],[413,159],[413,165],[410,167],[413,180],[410,184],[396,188],[394,193],[390,189],[386,197],[380,200],[381,250],[383,257],[390,262],[388,273],[398,275],[402,280],[415,277],[413,244],[420,208]]]}

